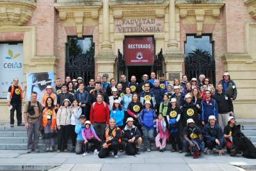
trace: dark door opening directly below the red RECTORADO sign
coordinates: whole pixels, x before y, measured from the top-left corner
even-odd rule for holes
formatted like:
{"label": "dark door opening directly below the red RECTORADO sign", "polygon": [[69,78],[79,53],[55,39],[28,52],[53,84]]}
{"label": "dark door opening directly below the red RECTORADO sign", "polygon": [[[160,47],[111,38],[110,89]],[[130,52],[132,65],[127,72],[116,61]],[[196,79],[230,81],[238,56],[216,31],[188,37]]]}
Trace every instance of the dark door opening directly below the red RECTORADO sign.
{"label": "dark door opening directly below the red RECTORADO sign", "polygon": [[148,75],[150,79],[150,74],[152,72],[152,66],[127,66],[128,75],[127,80],[131,82],[131,77],[134,75],[136,77],[136,82],[141,83],[141,78],[144,74]]}

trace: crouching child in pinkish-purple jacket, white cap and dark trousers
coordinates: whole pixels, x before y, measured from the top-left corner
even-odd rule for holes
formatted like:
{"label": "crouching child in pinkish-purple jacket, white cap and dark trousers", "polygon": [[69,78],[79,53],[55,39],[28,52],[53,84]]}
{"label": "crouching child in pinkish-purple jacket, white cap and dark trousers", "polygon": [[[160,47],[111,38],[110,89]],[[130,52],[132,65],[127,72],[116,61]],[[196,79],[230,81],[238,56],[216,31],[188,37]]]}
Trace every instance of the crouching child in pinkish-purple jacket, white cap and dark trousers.
{"label": "crouching child in pinkish-purple jacket, white cap and dark trousers", "polygon": [[[93,154],[98,154],[98,149],[99,149],[99,145],[100,145],[100,138],[97,137],[97,135],[95,134],[95,132],[92,130],[92,128],[90,128],[91,126],[91,122],[90,121],[86,121],[85,124],[84,124],[84,130],[82,131],[82,135],[83,135],[83,138],[84,138],[84,145],[85,145],[85,148],[84,148],[84,154],[83,156],[86,156],[87,155],[87,149],[88,149],[88,143],[89,142],[92,142],[95,144],[95,151]],[[93,138],[92,138],[93,136]]]}

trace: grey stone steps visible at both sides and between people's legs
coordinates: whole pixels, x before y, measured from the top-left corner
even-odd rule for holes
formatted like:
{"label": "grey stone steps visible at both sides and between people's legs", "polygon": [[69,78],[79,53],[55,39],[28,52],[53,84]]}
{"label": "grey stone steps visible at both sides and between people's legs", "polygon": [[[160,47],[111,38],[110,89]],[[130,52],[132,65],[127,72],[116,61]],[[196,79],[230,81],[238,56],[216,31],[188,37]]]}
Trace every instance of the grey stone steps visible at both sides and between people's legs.
{"label": "grey stone steps visible at both sides and between people's legs", "polygon": [[[241,126],[241,130],[243,131],[246,137],[250,138],[253,144],[256,146],[256,125],[246,124]],[[28,138],[27,131],[25,126],[14,126],[10,127],[10,125],[5,124],[0,126],[0,150],[26,150]],[[72,147],[71,138],[68,139],[68,149]],[[45,150],[45,140],[40,137],[38,149],[40,151]],[[152,150],[157,150],[156,145],[151,147]],[[172,145],[170,143],[166,144],[166,150],[172,149]],[[57,138],[55,138],[54,150],[57,150]],[[144,144],[141,145],[141,150],[145,150]]]}

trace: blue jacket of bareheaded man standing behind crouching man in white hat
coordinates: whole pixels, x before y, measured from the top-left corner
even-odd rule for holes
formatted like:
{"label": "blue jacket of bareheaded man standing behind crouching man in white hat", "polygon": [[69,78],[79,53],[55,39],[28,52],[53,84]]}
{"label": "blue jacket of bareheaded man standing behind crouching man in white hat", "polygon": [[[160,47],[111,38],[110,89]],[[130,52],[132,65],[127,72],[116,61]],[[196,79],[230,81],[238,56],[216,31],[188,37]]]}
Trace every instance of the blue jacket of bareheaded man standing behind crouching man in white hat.
{"label": "blue jacket of bareheaded man standing behind crouching man in white hat", "polygon": [[218,120],[218,104],[216,100],[211,98],[209,104],[207,104],[206,100],[202,100],[200,108],[202,108],[201,122],[208,120],[210,115],[214,115]]}

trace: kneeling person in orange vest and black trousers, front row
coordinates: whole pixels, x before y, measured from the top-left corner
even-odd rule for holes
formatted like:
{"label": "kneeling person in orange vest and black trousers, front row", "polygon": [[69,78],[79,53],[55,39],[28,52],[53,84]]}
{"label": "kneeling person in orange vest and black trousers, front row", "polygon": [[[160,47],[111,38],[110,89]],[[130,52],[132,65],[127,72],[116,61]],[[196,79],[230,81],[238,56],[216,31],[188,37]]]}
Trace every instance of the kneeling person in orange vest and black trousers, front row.
{"label": "kneeling person in orange vest and black trousers, front row", "polygon": [[99,151],[99,158],[105,158],[109,155],[109,152],[114,151],[115,158],[118,158],[117,152],[121,142],[121,130],[116,126],[115,118],[109,119],[109,126],[105,130],[105,136],[103,136],[102,149]]}

